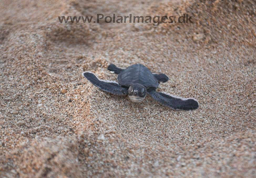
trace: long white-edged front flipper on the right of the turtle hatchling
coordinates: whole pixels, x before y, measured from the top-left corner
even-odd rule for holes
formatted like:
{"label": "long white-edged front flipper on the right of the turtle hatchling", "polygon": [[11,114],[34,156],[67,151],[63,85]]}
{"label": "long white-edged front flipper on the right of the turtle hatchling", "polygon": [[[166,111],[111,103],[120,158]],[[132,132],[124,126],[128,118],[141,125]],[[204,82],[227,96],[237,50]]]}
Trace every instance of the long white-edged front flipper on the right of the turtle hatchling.
{"label": "long white-edged front flipper on the right of the turtle hatchling", "polygon": [[176,97],[155,90],[149,90],[148,94],[158,103],[174,110],[193,110],[199,107],[198,101],[194,98]]}

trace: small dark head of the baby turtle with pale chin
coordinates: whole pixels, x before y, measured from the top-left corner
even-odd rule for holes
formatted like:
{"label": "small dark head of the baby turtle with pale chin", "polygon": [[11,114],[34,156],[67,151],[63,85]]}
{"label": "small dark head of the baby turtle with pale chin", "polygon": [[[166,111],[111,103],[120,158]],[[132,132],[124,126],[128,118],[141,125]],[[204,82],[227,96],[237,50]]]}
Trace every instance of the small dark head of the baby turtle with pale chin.
{"label": "small dark head of the baby turtle with pale chin", "polygon": [[142,102],[146,97],[146,93],[146,87],[138,83],[130,85],[128,89],[128,96],[135,103]]}

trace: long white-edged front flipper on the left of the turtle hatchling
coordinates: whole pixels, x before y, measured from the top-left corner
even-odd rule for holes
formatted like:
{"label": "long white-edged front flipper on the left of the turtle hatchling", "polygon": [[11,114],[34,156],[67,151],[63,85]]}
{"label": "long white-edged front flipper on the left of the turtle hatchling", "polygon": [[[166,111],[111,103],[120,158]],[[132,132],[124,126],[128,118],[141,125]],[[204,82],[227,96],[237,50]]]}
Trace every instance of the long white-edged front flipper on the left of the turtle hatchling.
{"label": "long white-edged front flipper on the left of the turtle hatchling", "polygon": [[113,95],[125,96],[128,95],[128,90],[121,87],[115,81],[101,80],[96,77],[92,72],[84,72],[82,75],[88,79],[94,86],[100,88],[103,91],[112,93]]}

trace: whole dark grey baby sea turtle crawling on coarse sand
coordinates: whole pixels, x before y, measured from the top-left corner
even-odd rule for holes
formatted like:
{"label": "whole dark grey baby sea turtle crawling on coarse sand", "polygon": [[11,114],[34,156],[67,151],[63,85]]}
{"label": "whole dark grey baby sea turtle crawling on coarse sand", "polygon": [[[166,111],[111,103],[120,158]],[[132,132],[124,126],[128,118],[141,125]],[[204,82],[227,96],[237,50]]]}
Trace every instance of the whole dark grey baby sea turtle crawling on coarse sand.
{"label": "whole dark grey baby sea turtle crawling on coarse sand", "polygon": [[153,74],[142,64],[134,64],[126,69],[120,69],[114,64],[108,66],[108,70],[118,74],[116,81],[101,80],[92,72],[86,71],[82,75],[93,85],[103,91],[114,95],[126,96],[136,103],[143,101],[148,93],[158,103],[174,110],[192,110],[199,107],[194,98],[176,97],[167,93],[157,92],[159,83],[167,82],[169,78],[161,74]]}

